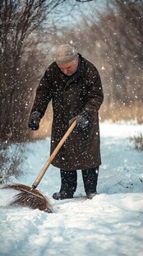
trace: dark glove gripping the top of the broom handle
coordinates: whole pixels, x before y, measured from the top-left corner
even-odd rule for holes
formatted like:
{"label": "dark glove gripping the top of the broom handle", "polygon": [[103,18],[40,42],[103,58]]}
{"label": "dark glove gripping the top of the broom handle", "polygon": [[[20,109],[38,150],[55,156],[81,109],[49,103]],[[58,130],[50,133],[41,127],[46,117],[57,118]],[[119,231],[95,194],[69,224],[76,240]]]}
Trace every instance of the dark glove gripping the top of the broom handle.
{"label": "dark glove gripping the top of the broom handle", "polygon": [[83,111],[80,115],[71,118],[69,125],[71,126],[71,123],[75,120],[77,121],[76,128],[78,130],[85,130],[89,125],[90,117],[86,111]]}

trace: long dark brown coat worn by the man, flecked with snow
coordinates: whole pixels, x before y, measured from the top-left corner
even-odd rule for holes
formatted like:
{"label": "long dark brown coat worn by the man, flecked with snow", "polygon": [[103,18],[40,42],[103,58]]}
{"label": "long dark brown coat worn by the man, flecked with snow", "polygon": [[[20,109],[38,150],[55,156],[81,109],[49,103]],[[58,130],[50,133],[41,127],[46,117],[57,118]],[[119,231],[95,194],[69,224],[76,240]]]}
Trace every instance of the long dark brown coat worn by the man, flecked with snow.
{"label": "long dark brown coat worn by the man, flecked with snow", "polygon": [[99,141],[99,107],[104,95],[99,73],[95,66],[80,55],[80,69],[67,76],[53,62],[39,83],[32,111],[44,112],[53,102],[51,153],[69,128],[69,120],[86,111],[90,124],[86,130],[71,132],[53,165],[64,170],[95,168],[101,164]]}

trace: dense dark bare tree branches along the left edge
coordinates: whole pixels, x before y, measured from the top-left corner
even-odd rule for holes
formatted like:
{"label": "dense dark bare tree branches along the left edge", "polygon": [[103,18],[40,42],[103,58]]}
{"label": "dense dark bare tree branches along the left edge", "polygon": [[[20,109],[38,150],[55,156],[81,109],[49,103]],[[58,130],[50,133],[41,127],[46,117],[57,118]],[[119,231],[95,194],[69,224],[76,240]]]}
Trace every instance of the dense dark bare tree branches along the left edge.
{"label": "dense dark bare tree branches along the left edge", "polygon": [[[0,3],[0,133],[1,140],[25,135],[24,99],[29,93],[28,82],[32,69],[25,67],[32,55],[32,45],[39,43],[39,30],[48,13],[64,0],[1,1]],[[38,39],[38,40],[37,40]],[[26,55],[29,51],[29,57]]]}

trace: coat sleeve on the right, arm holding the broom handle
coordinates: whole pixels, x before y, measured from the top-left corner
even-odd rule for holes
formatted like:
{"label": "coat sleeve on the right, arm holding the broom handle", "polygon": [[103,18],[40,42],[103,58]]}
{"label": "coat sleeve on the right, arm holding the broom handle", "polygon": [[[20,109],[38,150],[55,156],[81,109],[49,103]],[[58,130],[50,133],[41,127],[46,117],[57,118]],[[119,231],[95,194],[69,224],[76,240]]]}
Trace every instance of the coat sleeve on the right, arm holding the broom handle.
{"label": "coat sleeve on the right, arm holding the broom handle", "polygon": [[88,93],[84,110],[90,115],[95,116],[104,101],[104,92],[98,70],[93,67],[86,78]]}

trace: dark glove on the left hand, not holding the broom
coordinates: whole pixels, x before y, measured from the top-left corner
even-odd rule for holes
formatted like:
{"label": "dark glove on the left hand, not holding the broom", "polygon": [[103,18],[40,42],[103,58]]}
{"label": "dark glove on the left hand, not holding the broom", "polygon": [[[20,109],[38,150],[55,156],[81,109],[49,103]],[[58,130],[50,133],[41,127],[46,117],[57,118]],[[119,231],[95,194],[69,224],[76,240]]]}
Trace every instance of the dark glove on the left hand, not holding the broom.
{"label": "dark glove on the left hand, not holding the broom", "polygon": [[31,130],[38,130],[40,120],[41,120],[41,113],[39,113],[39,111],[31,112],[29,123],[28,123],[29,128]]}

